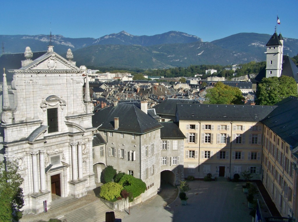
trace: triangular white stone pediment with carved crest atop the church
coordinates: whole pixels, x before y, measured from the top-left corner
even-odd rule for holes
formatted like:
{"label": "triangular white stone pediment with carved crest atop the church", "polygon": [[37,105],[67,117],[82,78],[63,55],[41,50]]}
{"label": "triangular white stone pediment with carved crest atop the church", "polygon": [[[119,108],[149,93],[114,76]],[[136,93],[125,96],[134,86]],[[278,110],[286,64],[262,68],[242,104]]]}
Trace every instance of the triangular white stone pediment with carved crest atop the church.
{"label": "triangular white stone pediment with carved crest atop the church", "polygon": [[77,66],[75,66],[71,61],[64,59],[63,57],[61,57],[55,52],[50,52],[42,55],[41,57],[29,63],[27,66],[22,67],[21,70],[24,70],[24,71],[33,71],[33,70],[80,71],[80,69]]}

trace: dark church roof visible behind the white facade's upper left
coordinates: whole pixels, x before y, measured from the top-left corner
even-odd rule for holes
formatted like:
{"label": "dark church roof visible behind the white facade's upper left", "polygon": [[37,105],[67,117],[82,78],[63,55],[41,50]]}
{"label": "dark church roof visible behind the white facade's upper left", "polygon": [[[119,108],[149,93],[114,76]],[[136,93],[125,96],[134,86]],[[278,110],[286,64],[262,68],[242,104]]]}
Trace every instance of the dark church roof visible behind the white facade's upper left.
{"label": "dark church roof visible behind the white facade's upper left", "polygon": [[[40,56],[46,54],[47,52],[33,52],[33,57],[31,60],[35,60]],[[3,74],[3,68],[5,68],[6,81],[11,83],[13,80],[13,73],[7,72],[8,69],[20,69],[22,67],[22,62],[26,60],[24,57],[24,52],[13,53],[13,54],[3,54],[0,56],[0,72]],[[3,81],[3,78],[0,80]]]}

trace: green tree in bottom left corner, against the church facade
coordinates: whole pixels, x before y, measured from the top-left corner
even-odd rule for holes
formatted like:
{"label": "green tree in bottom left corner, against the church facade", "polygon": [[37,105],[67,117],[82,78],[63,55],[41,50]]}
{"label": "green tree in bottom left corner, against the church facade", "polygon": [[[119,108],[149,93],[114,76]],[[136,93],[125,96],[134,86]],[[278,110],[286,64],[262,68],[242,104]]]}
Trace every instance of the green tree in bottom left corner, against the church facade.
{"label": "green tree in bottom left corner, against the church facade", "polygon": [[22,218],[23,181],[16,161],[0,162],[0,221],[19,221]]}

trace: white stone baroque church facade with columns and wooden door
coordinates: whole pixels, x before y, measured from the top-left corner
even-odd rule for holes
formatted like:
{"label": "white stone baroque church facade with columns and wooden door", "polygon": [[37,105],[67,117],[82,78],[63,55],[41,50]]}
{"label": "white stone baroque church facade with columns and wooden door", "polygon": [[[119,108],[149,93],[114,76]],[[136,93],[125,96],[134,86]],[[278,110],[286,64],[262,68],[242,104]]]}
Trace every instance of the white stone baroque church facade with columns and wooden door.
{"label": "white stone baroque church facade with columns and wooden door", "polygon": [[[16,160],[24,178],[24,213],[40,213],[52,194],[80,197],[96,187],[92,162],[93,104],[83,98],[84,70],[53,51],[13,73],[12,89],[3,78],[0,159]],[[87,83],[88,84],[88,81]],[[86,87],[89,90],[89,87]]]}

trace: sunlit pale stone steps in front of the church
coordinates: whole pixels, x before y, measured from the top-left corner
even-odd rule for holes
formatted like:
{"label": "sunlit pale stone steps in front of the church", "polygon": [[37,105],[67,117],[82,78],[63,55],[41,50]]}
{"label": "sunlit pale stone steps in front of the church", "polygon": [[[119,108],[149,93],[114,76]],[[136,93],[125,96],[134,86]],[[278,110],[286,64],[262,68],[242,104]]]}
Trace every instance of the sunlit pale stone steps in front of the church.
{"label": "sunlit pale stone steps in front of the church", "polygon": [[[108,208],[102,201],[98,200],[93,203],[87,204],[76,210],[73,210],[69,214],[64,215],[63,218],[59,218],[61,221],[66,219],[67,222],[101,222],[105,221],[105,212],[113,211]],[[115,218],[124,218],[126,212],[114,211]]]}

